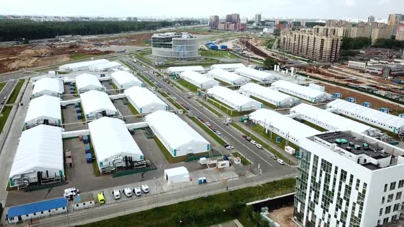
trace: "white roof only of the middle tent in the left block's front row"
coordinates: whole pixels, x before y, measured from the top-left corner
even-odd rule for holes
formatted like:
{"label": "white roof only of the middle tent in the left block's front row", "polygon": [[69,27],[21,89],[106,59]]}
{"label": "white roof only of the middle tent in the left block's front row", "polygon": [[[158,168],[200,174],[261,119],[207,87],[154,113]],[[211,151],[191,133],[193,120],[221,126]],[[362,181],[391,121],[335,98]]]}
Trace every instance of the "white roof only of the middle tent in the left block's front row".
{"label": "white roof only of the middle tent in the left block's front row", "polygon": [[88,123],[98,161],[121,154],[143,155],[123,120],[103,117]]}

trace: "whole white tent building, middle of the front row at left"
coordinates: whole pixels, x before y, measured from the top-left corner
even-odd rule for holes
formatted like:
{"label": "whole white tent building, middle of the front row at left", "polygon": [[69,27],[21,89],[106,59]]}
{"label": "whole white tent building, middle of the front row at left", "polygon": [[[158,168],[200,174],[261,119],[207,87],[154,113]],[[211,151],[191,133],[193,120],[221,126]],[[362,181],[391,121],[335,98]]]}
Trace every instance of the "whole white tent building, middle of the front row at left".
{"label": "whole white tent building, middle of the front row at left", "polygon": [[114,172],[144,159],[123,120],[100,118],[88,123],[88,129],[100,172]]}

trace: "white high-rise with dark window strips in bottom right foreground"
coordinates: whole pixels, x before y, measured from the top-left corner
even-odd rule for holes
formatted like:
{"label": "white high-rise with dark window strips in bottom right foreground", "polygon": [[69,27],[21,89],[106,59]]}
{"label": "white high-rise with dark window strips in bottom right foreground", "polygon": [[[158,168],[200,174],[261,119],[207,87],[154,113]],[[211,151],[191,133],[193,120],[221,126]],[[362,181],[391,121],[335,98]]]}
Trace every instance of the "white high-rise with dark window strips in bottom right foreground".
{"label": "white high-rise with dark window strips in bottom right foreground", "polygon": [[300,142],[294,217],[303,226],[373,227],[399,219],[404,150],[353,131]]}

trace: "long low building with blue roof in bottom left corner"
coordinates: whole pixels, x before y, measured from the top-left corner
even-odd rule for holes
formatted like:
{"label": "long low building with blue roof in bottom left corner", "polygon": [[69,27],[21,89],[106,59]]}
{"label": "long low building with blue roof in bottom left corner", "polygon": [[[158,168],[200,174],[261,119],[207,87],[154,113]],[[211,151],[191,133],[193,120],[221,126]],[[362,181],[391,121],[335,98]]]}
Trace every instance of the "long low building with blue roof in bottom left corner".
{"label": "long low building with blue roof in bottom left corner", "polygon": [[62,197],[20,206],[12,206],[8,209],[7,219],[8,223],[12,224],[65,212],[67,212],[67,200]]}

